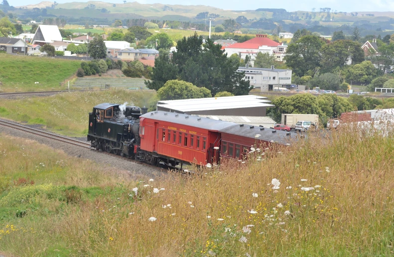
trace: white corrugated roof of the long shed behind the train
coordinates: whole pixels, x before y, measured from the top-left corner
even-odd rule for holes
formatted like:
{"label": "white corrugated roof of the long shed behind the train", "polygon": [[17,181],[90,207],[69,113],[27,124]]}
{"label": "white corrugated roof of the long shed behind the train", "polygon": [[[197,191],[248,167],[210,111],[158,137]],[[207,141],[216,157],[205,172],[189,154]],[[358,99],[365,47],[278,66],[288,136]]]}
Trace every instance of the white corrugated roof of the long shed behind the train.
{"label": "white corrugated roof of the long shed behind the train", "polygon": [[197,99],[158,101],[157,106],[181,112],[220,110],[248,107],[272,107],[267,97],[258,95],[238,95]]}

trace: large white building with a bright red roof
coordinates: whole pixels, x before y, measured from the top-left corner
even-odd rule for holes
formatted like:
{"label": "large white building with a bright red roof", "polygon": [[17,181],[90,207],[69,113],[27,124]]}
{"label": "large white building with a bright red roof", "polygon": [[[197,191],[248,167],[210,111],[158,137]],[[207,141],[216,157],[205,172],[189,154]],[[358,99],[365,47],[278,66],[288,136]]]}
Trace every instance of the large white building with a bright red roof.
{"label": "large white building with a bright red roof", "polygon": [[249,55],[251,57],[251,64],[253,65],[258,53],[275,54],[276,60],[282,61],[286,53],[287,45],[275,42],[269,39],[267,35],[257,34],[255,38],[243,43],[235,43],[226,46],[224,49],[227,56],[237,54],[240,58],[245,59],[245,57]]}

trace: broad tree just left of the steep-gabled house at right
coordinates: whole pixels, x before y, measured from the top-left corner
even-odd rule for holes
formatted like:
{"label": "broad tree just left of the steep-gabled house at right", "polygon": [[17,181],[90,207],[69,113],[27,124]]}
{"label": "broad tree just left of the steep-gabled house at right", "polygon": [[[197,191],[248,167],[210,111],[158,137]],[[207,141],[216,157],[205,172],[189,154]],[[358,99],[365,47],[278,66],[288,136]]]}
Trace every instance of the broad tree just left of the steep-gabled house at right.
{"label": "broad tree just left of the steep-gabled house at right", "polygon": [[352,58],[352,64],[364,61],[364,51],[358,42],[337,40],[321,48],[321,67],[324,71],[342,68]]}

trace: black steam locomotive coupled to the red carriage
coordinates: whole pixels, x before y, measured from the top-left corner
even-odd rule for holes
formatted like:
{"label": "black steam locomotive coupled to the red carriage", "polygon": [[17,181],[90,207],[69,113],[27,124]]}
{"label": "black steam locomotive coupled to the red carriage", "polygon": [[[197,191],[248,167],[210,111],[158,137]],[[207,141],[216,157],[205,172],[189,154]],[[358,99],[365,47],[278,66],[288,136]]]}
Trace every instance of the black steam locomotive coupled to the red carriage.
{"label": "black steam locomotive coupled to the red carriage", "polygon": [[102,103],[89,113],[88,141],[97,150],[134,157],[139,145],[139,116],[147,108]]}

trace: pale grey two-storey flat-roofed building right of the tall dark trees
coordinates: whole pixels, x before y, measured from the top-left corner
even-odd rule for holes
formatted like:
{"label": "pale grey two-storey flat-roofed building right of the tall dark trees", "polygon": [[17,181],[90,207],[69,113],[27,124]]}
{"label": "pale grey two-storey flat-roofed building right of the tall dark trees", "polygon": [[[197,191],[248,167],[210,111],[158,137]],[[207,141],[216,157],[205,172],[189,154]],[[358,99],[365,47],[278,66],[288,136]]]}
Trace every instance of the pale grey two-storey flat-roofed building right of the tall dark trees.
{"label": "pale grey two-storey flat-roofed building right of the tall dark trees", "polygon": [[254,87],[260,87],[261,92],[271,91],[274,87],[290,89],[291,86],[291,70],[275,69],[273,66],[271,69],[239,67],[237,72],[245,72],[244,80]]}

